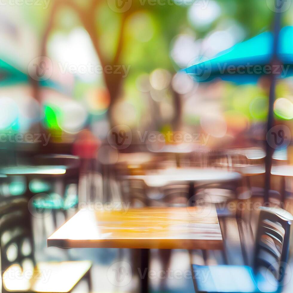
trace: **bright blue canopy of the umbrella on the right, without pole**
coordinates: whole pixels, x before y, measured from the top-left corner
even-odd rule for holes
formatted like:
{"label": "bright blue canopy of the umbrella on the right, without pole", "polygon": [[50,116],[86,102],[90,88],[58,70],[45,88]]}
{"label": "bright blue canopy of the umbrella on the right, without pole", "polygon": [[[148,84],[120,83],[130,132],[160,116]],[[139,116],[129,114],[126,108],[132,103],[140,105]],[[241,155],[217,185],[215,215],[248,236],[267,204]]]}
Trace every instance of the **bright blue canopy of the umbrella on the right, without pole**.
{"label": "bright blue canopy of the umbrella on the right, without pole", "polygon": [[198,82],[221,78],[240,84],[256,83],[260,76],[271,73],[289,77],[293,74],[293,27],[284,27],[279,40],[277,59],[281,64],[270,65],[274,36],[264,32],[220,52],[213,59],[187,67],[183,72]]}

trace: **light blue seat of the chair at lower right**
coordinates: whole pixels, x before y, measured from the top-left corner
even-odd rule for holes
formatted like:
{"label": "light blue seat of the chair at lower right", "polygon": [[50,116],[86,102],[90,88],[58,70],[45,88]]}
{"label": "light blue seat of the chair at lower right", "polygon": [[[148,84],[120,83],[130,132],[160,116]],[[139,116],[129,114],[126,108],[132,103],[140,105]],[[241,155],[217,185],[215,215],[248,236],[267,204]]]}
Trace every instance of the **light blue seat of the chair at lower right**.
{"label": "light blue seat of the chair at lower right", "polygon": [[192,265],[196,292],[254,293],[277,292],[274,278],[268,281],[266,270],[255,277],[249,266]]}

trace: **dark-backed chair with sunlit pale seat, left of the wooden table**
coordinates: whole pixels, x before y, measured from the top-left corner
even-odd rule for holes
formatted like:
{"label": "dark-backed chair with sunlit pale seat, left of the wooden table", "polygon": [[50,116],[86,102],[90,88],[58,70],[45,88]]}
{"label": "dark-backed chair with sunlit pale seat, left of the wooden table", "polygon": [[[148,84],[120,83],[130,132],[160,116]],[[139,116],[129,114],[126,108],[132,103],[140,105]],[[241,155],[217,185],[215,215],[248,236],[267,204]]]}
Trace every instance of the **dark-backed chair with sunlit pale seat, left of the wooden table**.
{"label": "dark-backed chair with sunlit pale seat, left of the wooden table", "polygon": [[71,292],[83,278],[90,283],[89,261],[36,263],[28,201],[0,198],[2,293]]}

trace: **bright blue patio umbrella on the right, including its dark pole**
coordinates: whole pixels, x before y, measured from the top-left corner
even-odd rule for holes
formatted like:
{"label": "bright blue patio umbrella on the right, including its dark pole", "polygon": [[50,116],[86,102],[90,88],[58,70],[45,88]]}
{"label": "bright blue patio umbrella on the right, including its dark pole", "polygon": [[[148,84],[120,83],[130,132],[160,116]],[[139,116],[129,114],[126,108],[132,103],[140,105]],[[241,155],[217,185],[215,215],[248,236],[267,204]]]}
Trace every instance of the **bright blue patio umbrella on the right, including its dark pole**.
{"label": "bright blue patio umbrella on the right, including its dark pole", "polygon": [[[252,39],[220,52],[213,59],[198,62],[183,69],[183,72],[189,74],[198,82],[207,82],[215,78],[221,78],[222,80],[240,84],[256,83],[261,76],[268,75],[271,81],[268,131],[272,128],[274,120],[273,106],[276,79],[293,75],[293,27],[284,27],[280,30],[281,14],[275,12],[273,33],[261,33]],[[266,154],[265,202],[268,202],[273,154],[273,149],[268,144],[268,141],[266,141]]]}

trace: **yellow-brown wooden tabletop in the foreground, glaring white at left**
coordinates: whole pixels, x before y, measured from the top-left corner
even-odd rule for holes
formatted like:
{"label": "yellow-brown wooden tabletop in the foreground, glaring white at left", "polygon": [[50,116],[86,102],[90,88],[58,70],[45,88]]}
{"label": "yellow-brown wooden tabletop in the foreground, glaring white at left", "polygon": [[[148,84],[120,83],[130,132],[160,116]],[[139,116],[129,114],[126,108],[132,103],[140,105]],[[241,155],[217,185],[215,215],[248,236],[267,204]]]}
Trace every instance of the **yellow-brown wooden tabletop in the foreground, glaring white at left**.
{"label": "yellow-brown wooden tabletop in the foreground, glaring white at left", "polygon": [[221,249],[222,234],[213,205],[83,210],[48,238],[48,246]]}

